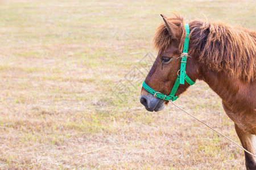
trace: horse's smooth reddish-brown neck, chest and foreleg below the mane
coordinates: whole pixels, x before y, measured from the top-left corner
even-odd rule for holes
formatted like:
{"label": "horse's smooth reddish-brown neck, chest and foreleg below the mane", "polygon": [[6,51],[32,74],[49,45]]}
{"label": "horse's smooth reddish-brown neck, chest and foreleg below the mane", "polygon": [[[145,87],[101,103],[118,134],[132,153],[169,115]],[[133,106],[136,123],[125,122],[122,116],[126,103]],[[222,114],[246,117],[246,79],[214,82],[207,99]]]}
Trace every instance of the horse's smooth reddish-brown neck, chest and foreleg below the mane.
{"label": "horse's smooth reddish-brown neck, chest and foreleg below the mane", "polygon": [[[243,82],[223,73],[213,73],[207,67],[202,70],[199,79],[204,80],[221,97],[223,108],[234,121],[242,146],[256,154],[256,81]],[[247,169],[256,169],[254,156],[245,152],[245,159]]]}

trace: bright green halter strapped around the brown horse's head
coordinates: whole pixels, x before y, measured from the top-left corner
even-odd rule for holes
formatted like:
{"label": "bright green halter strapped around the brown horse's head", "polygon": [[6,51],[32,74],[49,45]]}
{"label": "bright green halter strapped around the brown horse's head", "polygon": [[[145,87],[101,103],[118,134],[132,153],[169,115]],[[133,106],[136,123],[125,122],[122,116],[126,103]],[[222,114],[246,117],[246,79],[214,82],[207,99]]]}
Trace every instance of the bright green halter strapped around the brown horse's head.
{"label": "bright green halter strapped around the brown horse's head", "polygon": [[195,84],[195,82],[193,82],[188,75],[185,73],[185,69],[186,69],[186,63],[187,63],[187,56],[188,56],[188,42],[189,42],[189,25],[185,24],[185,32],[186,32],[186,37],[185,37],[185,41],[184,41],[184,46],[183,46],[183,53],[181,54],[181,63],[180,63],[180,75],[179,75],[179,71],[178,71],[178,76],[177,79],[174,83],[174,87],[172,87],[171,93],[170,95],[164,95],[161,92],[155,91],[154,89],[152,89],[151,87],[149,87],[145,81],[142,83],[142,87],[150,92],[150,94],[154,95],[154,97],[157,97],[159,99],[162,100],[176,100],[179,96],[175,96],[175,93],[177,91],[177,88],[180,86],[180,84],[184,84],[184,81],[186,81],[190,86]]}

